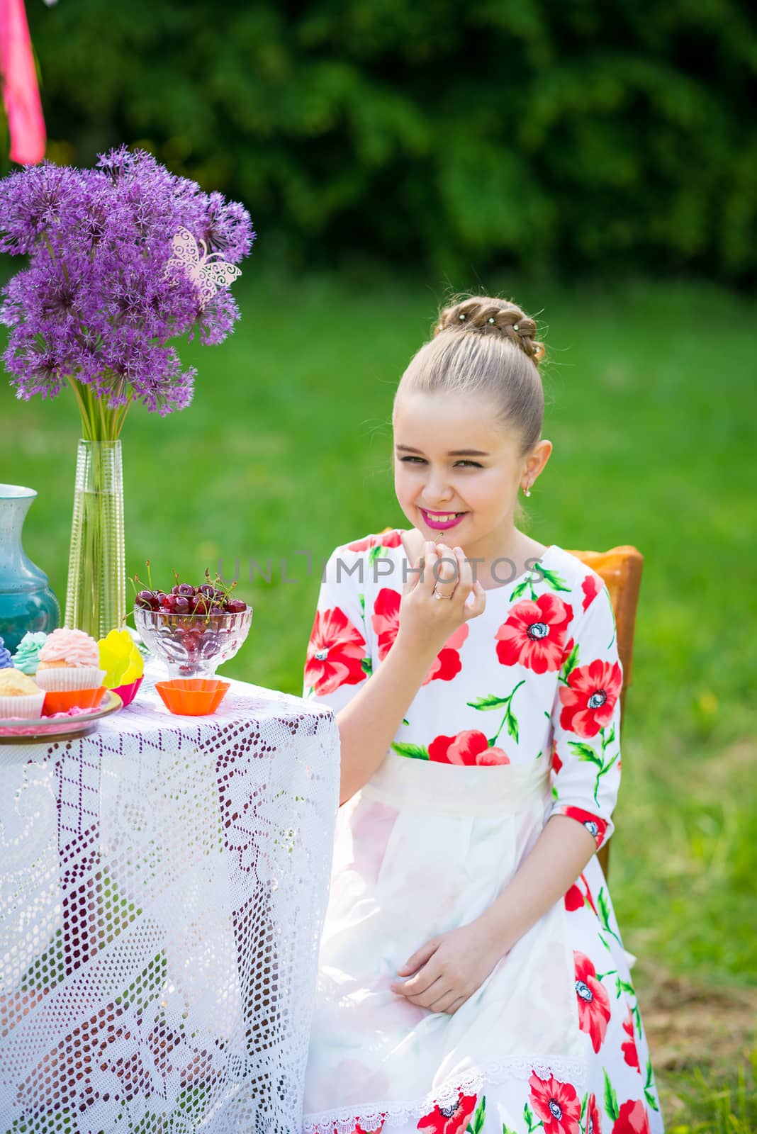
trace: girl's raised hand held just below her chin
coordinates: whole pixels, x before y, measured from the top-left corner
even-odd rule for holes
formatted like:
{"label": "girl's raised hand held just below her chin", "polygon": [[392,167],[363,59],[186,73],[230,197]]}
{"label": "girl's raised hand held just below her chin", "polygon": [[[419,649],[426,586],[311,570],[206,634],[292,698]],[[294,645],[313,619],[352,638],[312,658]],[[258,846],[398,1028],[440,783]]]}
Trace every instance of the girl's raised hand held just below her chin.
{"label": "girl's raised hand held just below her chin", "polygon": [[[435,599],[435,586],[452,598]],[[474,600],[467,603],[471,592]],[[485,607],[486,592],[480,583],[474,583],[462,549],[450,549],[428,540],[402,587],[398,636],[412,649],[428,651],[435,657],[448,638],[463,623],[483,613]]]}

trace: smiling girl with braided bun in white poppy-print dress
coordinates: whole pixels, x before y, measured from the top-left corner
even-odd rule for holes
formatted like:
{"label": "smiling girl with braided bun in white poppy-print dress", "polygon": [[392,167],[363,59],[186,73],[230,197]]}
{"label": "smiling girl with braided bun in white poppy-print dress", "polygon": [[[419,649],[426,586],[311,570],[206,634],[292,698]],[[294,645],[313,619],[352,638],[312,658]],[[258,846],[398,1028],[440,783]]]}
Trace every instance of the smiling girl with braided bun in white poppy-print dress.
{"label": "smiling girl with braided bun in white poppy-print dress", "polygon": [[402,375],[409,528],[332,553],[305,696],[337,711],[341,810],[307,1134],[662,1134],[595,852],[620,691],[598,575],[514,526],[552,443],[536,325],[474,297]]}

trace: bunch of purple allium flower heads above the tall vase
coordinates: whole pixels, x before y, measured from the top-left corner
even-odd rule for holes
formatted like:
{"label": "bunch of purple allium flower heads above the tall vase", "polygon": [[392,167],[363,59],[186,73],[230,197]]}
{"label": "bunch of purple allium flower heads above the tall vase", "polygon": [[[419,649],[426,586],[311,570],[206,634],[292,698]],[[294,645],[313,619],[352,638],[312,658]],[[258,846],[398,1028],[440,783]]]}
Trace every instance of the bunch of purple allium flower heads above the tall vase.
{"label": "bunch of purple allium flower heads above the tall vase", "polygon": [[198,331],[203,344],[222,342],[239,308],[224,288],[203,303],[188,273],[167,273],[180,228],[232,264],[255,239],[241,204],[125,146],[94,169],[42,162],[0,180],[0,252],[29,256],[0,305],[17,397],[80,383],[108,411],[189,405],[195,371],[169,340]]}

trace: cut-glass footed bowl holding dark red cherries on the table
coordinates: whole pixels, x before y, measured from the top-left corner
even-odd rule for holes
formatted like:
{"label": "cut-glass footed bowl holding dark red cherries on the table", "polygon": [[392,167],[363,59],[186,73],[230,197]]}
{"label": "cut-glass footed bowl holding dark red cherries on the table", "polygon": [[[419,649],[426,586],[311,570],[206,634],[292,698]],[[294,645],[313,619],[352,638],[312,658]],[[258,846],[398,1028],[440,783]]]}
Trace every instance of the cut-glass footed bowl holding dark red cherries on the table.
{"label": "cut-glass footed bowl holding dark red cherries on the table", "polygon": [[134,608],[134,625],[170,679],[213,677],[241,646],[249,633],[253,608],[238,615],[173,615],[168,610]]}

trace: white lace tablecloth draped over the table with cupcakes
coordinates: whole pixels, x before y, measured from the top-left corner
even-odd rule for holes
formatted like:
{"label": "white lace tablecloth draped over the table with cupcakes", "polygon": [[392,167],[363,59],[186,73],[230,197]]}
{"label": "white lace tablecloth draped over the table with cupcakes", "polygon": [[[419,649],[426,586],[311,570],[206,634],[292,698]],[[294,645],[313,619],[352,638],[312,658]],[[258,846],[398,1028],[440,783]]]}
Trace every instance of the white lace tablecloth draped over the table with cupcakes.
{"label": "white lace tablecloth draped over the table with cupcakes", "polygon": [[0,1134],[299,1132],[333,714],[233,682],[0,745]]}

